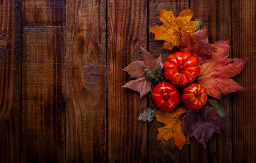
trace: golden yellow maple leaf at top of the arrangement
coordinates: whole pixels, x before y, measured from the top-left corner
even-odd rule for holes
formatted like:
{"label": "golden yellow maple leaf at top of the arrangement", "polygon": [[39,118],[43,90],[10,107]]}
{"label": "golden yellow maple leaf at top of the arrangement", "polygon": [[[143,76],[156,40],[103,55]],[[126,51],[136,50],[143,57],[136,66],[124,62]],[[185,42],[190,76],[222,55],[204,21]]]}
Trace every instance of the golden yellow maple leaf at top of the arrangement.
{"label": "golden yellow maple leaf at top of the arrangement", "polygon": [[156,25],[150,29],[150,32],[155,34],[155,40],[165,41],[162,48],[171,50],[174,46],[179,46],[183,30],[187,30],[189,33],[196,31],[198,21],[190,21],[193,14],[191,14],[189,7],[180,12],[177,18],[175,18],[172,11],[160,9],[159,13],[163,25]]}

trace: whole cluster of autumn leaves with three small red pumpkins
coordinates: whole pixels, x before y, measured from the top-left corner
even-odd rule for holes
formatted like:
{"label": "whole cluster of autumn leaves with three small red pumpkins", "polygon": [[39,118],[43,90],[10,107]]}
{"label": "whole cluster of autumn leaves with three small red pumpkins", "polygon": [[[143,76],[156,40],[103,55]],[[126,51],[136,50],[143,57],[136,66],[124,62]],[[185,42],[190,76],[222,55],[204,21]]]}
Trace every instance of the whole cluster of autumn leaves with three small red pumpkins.
{"label": "whole cluster of autumn leaves with three small red pumpkins", "polygon": [[189,7],[177,18],[172,11],[160,10],[163,25],[150,32],[155,40],[165,42],[162,48],[177,46],[180,51],[170,54],[163,64],[161,55],[156,59],[141,47],[143,61],[134,61],[123,69],[131,75],[124,88],[139,92],[140,98],[152,92],[155,108],[147,108],[138,119],[150,122],[155,116],[165,124],[158,128],[158,140],[174,137],[180,150],[189,144],[189,137],[195,136],[206,148],[213,132],[223,133],[225,109],[209,98],[219,99],[220,94],[242,90],[232,77],[249,60],[229,58],[230,39],[210,44],[203,23],[199,18],[191,21],[192,15]]}

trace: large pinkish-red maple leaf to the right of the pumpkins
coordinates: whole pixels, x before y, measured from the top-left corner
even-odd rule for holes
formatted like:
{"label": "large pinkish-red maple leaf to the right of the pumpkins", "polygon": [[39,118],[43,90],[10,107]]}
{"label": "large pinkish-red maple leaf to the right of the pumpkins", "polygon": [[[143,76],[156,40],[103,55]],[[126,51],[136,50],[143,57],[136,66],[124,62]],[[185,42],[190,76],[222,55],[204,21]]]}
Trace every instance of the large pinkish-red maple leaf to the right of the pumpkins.
{"label": "large pinkish-red maple leaf to the right of the pumpkins", "polygon": [[232,93],[243,89],[232,80],[232,77],[242,71],[249,58],[228,58],[230,41],[215,42],[213,44],[216,47],[215,53],[210,60],[200,65],[201,74],[197,82],[207,90],[207,94],[211,97],[220,98],[220,94]]}

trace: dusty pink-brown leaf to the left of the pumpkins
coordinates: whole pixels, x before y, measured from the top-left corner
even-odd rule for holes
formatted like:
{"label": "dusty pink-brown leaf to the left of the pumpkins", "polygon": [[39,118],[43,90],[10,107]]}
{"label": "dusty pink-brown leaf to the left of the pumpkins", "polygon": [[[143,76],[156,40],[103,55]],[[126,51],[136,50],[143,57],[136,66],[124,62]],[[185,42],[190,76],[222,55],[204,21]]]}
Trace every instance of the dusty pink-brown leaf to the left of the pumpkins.
{"label": "dusty pink-brown leaf to the left of the pumpkins", "polygon": [[123,85],[123,88],[130,88],[134,91],[140,93],[140,98],[142,98],[145,94],[149,93],[151,90],[151,82],[145,78],[144,69],[156,69],[156,65],[159,64],[161,68],[163,67],[162,57],[158,57],[157,59],[152,56],[148,51],[144,48],[140,47],[142,51],[143,61],[136,60],[126,66],[123,70],[128,72],[131,75],[131,78],[136,78],[127,82]]}

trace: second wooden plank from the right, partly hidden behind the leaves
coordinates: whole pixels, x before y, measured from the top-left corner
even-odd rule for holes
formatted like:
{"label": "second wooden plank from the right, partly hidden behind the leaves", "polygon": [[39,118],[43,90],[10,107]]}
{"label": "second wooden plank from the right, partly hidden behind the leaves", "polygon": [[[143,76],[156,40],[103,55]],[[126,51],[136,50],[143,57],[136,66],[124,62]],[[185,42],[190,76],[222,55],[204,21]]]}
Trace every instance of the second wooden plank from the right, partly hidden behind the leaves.
{"label": "second wooden plank from the right, partly hidden behind the leaves", "polygon": [[[200,18],[203,21],[210,43],[231,39],[231,0],[191,0],[190,5],[194,13],[192,19]],[[213,133],[207,150],[197,145],[200,143],[194,139],[191,142],[192,162],[232,162],[232,95],[222,95],[220,103],[226,110],[226,117],[222,119],[224,134]]]}

